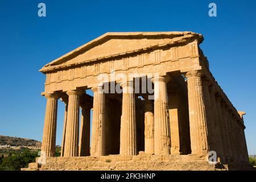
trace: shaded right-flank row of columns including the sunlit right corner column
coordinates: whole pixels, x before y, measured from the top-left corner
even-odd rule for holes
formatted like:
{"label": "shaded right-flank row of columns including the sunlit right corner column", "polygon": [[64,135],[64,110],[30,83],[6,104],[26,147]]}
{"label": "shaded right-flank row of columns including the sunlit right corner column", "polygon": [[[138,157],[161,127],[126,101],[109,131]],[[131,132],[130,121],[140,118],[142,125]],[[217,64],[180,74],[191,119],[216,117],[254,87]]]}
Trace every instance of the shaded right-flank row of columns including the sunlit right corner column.
{"label": "shaded right-flank row of columns including the sunlit right corner column", "polygon": [[[191,132],[195,132],[193,127],[199,127],[203,129],[199,133],[203,136],[199,137],[203,142],[202,153],[209,151],[216,151],[217,156],[227,162],[247,162],[248,154],[246,141],[243,139],[244,126],[242,118],[238,118],[237,115],[231,109],[228,102],[222,98],[221,93],[218,93],[213,84],[207,80],[202,79],[202,72],[194,71],[187,73],[188,78],[188,102],[189,102],[189,121]],[[192,79],[191,79],[192,78]],[[195,81],[196,82],[193,82]],[[191,84],[191,85],[190,85]],[[200,86],[201,85],[201,86]],[[191,86],[195,86],[199,89],[199,95],[192,95],[189,90]],[[201,89],[202,88],[202,92]],[[195,90],[195,89],[194,89]],[[195,93],[195,94],[196,94]],[[199,97],[199,98],[198,98]],[[197,121],[203,122],[196,126],[196,123],[192,121],[191,115],[193,114],[193,99],[201,100],[203,109],[201,115],[198,115]],[[199,113],[199,112],[197,112]],[[203,119],[201,119],[201,117]],[[193,123],[195,125],[193,125]],[[202,127],[203,126],[203,127]],[[200,146],[195,144],[200,140],[193,141],[196,139],[191,134],[191,149],[192,154],[198,153],[193,150],[193,146]]]}

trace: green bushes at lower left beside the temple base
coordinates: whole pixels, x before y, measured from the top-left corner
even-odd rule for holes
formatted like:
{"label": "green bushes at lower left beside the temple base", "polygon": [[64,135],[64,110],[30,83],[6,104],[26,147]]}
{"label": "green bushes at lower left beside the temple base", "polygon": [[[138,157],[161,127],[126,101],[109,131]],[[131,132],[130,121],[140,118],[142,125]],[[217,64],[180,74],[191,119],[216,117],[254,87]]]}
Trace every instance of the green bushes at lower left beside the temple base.
{"label": "green bushes at lower left beside the temple base", "polygon": [[7,157],[0,155],[0,171],[19,171],[20,168],[28,167],[28,163],[35,162],[38,151],[30,151],[25,148],[22,151],[9,153]]}

